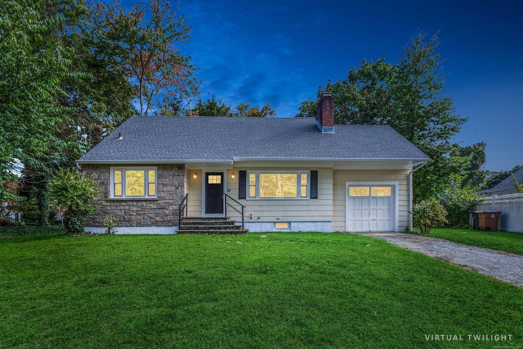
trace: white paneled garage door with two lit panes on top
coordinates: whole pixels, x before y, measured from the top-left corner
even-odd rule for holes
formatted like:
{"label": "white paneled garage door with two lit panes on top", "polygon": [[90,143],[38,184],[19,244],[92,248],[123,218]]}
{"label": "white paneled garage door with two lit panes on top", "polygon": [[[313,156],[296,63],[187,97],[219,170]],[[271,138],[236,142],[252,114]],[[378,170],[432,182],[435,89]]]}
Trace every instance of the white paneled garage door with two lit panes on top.
{"label": "white paneled garage door with two lit panes on top", "polygon": [[392,185],[349,185],[348,231],[394,231]]}

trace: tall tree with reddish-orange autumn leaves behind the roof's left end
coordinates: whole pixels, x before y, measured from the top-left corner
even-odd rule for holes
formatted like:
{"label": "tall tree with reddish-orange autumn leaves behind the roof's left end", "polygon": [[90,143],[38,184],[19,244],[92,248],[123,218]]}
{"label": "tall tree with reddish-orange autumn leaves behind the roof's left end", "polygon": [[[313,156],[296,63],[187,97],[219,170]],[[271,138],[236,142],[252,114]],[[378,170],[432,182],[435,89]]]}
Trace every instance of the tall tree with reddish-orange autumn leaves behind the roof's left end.
{"label": "tall tree with reddish-orange autumn leaves behind the roof's left end", "polygon": [[[178,8],[164,0],[150,0],[151,19],[145,20],[147,7],[138,3],[130,10],[118,3],[97,3],[105,18],[108,40],[122,49],[122,69],[133,88],[141,115],[157,114],[180,100],[198,94],[197,67],[181,53],[178,44],[188,43],[191,27]],[[166,108],[167,107],[167,108]]]}

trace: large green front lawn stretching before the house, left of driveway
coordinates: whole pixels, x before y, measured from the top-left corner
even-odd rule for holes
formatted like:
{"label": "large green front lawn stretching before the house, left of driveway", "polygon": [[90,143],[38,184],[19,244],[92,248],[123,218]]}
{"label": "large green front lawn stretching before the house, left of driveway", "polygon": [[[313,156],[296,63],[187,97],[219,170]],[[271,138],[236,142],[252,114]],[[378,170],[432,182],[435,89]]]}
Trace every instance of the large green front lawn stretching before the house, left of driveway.
{"label": "large green front lawn stretching before the house, left of driveway", "polygon": [[518,287],[359,235],[261,235],[0,238],[0,347],[523,345]]}

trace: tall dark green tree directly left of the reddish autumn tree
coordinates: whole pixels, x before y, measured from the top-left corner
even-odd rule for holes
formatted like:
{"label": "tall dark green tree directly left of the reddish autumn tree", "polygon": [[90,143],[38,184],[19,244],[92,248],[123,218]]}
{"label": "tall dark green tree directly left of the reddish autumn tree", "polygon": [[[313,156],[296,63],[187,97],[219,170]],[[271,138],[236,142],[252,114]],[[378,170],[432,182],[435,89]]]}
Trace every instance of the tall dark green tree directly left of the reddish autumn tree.
{"label": "tall dark green tree directly left of the reddish autumn tree", "polygon": [[[67,96],[61,103],[70,108],[73,123],[63,125],[60,131],[64,141],[72,137],[83,142],[83,152],[137,114],[131,84],[121,68],[122,49],[108,39],[105,13],[97,4],[92,6],[78,4],[69,26],[60,35],[64,44],[74,50],[71,69],[82,73],[79,78],[62,82]],[[71,161],[77,156],[70,156]]]}

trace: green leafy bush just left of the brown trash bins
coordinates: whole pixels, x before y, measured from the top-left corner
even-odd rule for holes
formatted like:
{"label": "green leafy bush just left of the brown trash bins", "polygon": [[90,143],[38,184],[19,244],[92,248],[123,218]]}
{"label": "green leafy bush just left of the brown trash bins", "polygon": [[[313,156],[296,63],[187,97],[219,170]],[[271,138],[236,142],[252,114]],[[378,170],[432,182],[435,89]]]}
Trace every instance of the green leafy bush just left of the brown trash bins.
{"label": "green leafy bush just left of the brown trash bins", "polygon": [[453,178],[442,190],[438,199],[447,211],[447,226],[451,228],[469,228],[470,212],[481,202],[476,188],[462,186],[462,179]]}

